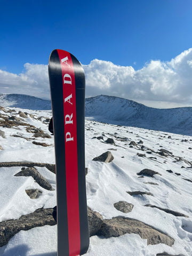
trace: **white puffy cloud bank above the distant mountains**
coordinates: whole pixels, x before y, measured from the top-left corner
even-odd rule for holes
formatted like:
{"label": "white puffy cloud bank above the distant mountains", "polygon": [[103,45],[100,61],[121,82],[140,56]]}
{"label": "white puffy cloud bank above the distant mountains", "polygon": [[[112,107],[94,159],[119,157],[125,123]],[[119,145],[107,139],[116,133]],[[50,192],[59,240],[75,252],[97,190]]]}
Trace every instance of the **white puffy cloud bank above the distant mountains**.
{"label": "white puffy cloud bank above the distant mountains", "polygon": [[[47,65],[26,63],[24,67],[19,75],[0,69],[1,93],[50,98]],[[139,70],[98,59],[83,65],[83,68],[86,97],[107,94],[138,102],[153,102],[153,106],[155,102],[158,106],[161,102],[170,106],[173,102],[174,106],[192,106],[192,48],[171,61],[151,60]]]}

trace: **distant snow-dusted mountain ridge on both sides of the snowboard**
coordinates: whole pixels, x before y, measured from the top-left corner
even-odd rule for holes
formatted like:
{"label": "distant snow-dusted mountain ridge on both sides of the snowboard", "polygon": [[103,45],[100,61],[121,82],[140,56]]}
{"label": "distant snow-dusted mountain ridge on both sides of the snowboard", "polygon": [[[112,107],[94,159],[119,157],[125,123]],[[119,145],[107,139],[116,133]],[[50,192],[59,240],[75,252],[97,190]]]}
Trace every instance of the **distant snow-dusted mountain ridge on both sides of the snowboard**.
{"label": "distant snow-dusted mountain ridge on both sides of the snowboard", "polygon": [[[25,94],[0,94],[0,106],[50,110],[51,101]],[[99,95],[85,100],[85,116],[110,124],[192,135],[192,107],[157,109],[132,100]]]}

